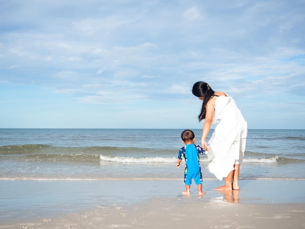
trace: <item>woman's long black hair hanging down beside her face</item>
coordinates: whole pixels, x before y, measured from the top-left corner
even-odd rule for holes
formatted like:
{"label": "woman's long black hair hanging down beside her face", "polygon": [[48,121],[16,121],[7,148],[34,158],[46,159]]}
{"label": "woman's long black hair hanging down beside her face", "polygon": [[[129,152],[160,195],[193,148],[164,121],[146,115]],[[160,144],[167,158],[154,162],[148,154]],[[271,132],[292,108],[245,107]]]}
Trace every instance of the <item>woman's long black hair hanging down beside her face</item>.
{"label": "woman's long black hair hanging down beside her face", "polygon": [[199,81],[193,85],[192,93],[197,97],[203,97],[201,112],[198,115],[198,119],[200,122],[201,120],[206,118],[207,102],[210,100],[211,97],[214,96],[215,92],[211,89],[208,83]]}

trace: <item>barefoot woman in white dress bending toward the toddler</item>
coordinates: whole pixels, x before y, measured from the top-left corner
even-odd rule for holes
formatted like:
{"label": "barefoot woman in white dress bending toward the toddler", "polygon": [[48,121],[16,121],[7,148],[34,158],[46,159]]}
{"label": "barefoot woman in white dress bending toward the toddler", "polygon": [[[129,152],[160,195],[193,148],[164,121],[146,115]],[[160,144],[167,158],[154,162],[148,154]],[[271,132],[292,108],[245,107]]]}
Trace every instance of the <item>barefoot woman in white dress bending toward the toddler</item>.
{"label": "barefoot woman in white dress bending toward the toddler", "polygon": [[[211,160],[207,170],[217,179],[225,178],[225,185],[215,190],[239,190],[239,165],[244,158],[247,138],[247,122],[236,106],[235,101],[224,92],[214,92],[206,82],[196,82],[193,95],[202,102],[199,121],[205,119],[201,147]],[[210,141],[206,138],[211,124],[219,122]]]}

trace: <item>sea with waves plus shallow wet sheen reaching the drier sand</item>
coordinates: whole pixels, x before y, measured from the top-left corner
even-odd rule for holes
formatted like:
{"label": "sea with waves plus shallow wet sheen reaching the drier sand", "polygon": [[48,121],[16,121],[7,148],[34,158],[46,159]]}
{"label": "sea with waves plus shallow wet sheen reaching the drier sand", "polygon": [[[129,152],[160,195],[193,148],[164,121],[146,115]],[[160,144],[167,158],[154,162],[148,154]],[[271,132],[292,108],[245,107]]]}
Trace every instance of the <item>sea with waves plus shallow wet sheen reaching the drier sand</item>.
{"label": "sea with waves plus shallow wet sheen reaching the drier sand", "polygon": [[[184,165],[175,164],[182,131],[0,129],[0,222],[50,219],[153,197],[181,201]],[[193,131],[200,144],[202,130]],[[213,190],[224,181],[205,170],[209,160],[200,156],[206,192],[201,200],[228,202]],[[304,179],[305,130],[248,130],[240,203],[305,203]],[[196,188],[191,186],[191,198],[198,198]]]}

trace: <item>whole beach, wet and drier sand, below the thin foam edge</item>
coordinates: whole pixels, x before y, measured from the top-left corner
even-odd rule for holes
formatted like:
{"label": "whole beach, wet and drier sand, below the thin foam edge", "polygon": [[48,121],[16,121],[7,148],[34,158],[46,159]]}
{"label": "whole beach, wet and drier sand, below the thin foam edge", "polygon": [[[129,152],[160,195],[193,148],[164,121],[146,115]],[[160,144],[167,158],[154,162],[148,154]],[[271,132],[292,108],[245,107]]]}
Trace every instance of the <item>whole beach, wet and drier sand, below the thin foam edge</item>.
{"label": "whole beach, wet and drier sand, below the thin foam edge", "polygon": [[[71,189],[66,193],[61,191],[60,197],[49,195],[45,199],[49,199],[47,204],[39,200],[37,193],[27,201],[20,196],[24,206],[19,206],[23,208],[19,213],[2,205],[0,229],[305,228],[304,180],[241,180],[240,191],[226,192],[213,191],[220,181],[208,180],[204,182],[206,195],[203,196],[196,193],[195,186],[191,187],[190,196],[180,194],[184,188],[180,180],[27,182],[27,186],[21,182],[23,191],[29,191],[34,183],[33,190],[43,186],[60,192],[61,188],[67,189],[63,184],[69,183],[75,192],[71,193]],[[5,185],[16,189],[21,184],[12,183]],[[124,188],[117,189],[121,186]],[[9,204],[3,199],[2,196],[1,203]]]}

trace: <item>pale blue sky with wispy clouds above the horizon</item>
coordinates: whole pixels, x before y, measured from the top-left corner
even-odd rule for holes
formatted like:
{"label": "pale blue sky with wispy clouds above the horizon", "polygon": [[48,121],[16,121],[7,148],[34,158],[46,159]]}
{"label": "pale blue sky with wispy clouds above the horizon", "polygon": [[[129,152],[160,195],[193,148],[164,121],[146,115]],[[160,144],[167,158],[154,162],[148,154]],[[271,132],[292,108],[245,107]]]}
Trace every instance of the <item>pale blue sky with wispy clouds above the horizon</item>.
{"label": "pale blue sky with wispy clouds above the horizon", "polygon": [[0,0],[0,128],[305,129],[305,0]]}

